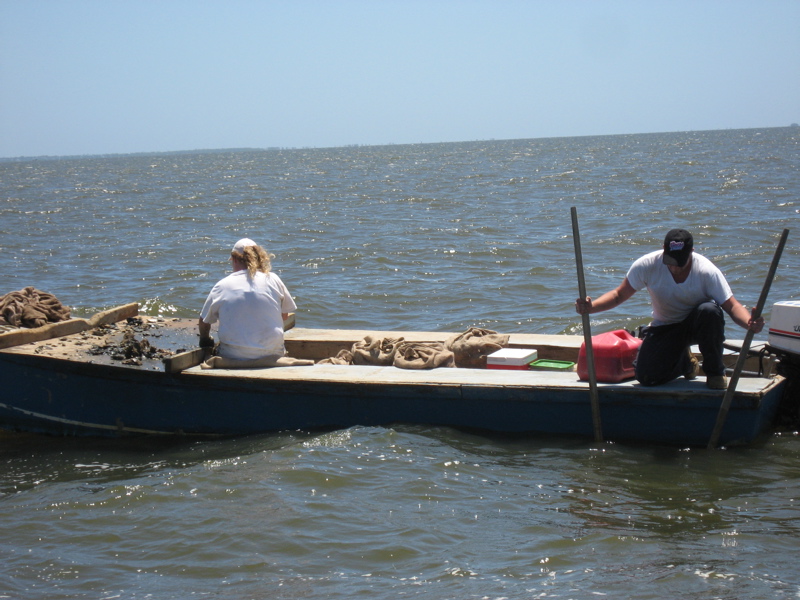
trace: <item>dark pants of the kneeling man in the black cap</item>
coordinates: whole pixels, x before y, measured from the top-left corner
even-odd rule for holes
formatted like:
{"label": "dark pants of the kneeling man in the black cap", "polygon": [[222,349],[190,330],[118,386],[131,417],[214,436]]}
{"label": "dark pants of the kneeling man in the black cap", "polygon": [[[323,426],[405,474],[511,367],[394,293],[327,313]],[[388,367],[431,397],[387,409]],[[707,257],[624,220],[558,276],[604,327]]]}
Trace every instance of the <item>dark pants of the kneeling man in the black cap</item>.
{"label": "dark pants of the kneeling man in the black cap", "polygon": [[704,302],[680,323],[646,327],[642,339],[636,358],[636,379],[642,385],[661,385],[688,372],[686,349],[692,344],[700,346],[707,376],[725,373],[725,317],[716,302]]}

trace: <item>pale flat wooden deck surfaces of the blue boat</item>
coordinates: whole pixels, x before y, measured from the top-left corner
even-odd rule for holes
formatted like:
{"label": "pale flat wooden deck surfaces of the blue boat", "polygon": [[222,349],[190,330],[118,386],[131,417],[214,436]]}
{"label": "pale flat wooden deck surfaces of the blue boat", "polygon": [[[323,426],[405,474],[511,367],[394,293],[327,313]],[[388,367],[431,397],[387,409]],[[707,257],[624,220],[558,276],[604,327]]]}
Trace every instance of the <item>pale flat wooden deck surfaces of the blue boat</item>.
{"label": "pale flat wooden deck surfaces of the blue boat", "polygon": [[[131,325],[119,323],[112,328],[82,331],[58,338],[35,341],[20,346],[0,350],[12,354],[36,354],[66,360],[78,360],[95,364],[120,365],[107,353],[92,352],[98,346],[118,344],[125,331],[132,330],[138,338],[147,338],[152,346],[167,352],[181,352],[197,343],[197,322],[194,319],[156,319],[141,317],[141,323]],[[367,336],[398,338],[411,342],[444,342],[453,335],[451,332],[432,331],[379,331],[352,329],[309,329],[296,327],[285,334],[286,348],[290,356],[321,360],[335,356],[339,350],[349,349],[355,342]],[[512,333],[509,347],[535,348],[539,358],[577,362],[583,336]],[[141,365],[127,365],[128,368],[160,370],[161,360],[145,359]],[[589,383],[580,381],[575,371],[518,371],[503,369],[449,369],[431,370],[398,369],[363,365],[316,364],[311,367],[273,367],[269,369],[201,369],[191,365],[182,369],[183,373],[214,378],[265,379],[265,380],[306,380],[306,381],[348,381],[352,383],[409,383],[420,385],[475,385],[510,387],[558,387],[587,388]],[[737,390],[742,393],[757,393],[768,387],[771,378],[742,377]],[[599,383],[601,388],[625,390],[635,388],[640,393],[648,390],[635,381],[620,383]],[[722,391],[709,390],[705,377],[694,381],[679,378],[669,384],[658,386],[661,392],[673,394],[721,395]]]}

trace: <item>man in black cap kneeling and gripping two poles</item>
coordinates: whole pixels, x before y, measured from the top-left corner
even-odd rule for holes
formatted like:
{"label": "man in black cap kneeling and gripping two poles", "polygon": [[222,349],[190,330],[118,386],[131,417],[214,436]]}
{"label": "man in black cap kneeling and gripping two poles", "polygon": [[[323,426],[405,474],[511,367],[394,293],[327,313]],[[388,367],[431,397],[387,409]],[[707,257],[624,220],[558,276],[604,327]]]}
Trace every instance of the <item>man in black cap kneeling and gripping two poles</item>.
{"label": "man in black cap kneeling and gripping two poles", "polygon": [[706,385],[725,389],[723,311],[754,333],[763,329],[764,319],[753,319],[733,297],[725,276],[710,260],[694,253],[692,235],[683,229],[667,233],[662,250],[636,260],[616,289],[595,301],[578,298],[575,310],[578,314],[609,310],[645,287],[653,305],[653,322],[643,331],[636,379],[642,385],[661,385],[680,376],[694,379],[699,364],[690,349],[698,344]]}

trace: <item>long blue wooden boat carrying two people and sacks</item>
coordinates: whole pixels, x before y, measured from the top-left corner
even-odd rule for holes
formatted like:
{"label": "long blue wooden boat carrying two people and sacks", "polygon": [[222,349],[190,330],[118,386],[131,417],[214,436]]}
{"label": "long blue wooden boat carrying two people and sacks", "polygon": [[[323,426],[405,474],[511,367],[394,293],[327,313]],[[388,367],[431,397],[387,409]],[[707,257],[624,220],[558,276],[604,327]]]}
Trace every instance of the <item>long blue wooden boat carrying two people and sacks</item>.
{"label": "long blue wooden boat carrying two people and sacks", "polygon": [[[0,350],[0,427],[75,436],[238,436],[282,430],[413,423],[524,435],[593,436],[589,384],[575,371],[474,368],[399,369],[315,364],[307,367],[203,369],[196,321],[144,322],[151,345],[189,348],[164,361],[123,364],[98,353],[102,339],[128,322],[107,324]],[[297,358],[333,356],[365,334],[441,341],[439,332],[293,328]],[[105,337],[104,337],[105,336]],[[577,361],[580,336],[511,334],[509,346],[540,358]],[[165,340],[170,340],[166,342]],[[176,341],[177,340],[177,341]],[[108,345],[108,342],[104,342]],[[770,430],[785,379],[742,377],[719,442],[747,444]],[[724,390],[705,378],[658,387],[634,381],[598,384],[608,441],[705,446]]]}

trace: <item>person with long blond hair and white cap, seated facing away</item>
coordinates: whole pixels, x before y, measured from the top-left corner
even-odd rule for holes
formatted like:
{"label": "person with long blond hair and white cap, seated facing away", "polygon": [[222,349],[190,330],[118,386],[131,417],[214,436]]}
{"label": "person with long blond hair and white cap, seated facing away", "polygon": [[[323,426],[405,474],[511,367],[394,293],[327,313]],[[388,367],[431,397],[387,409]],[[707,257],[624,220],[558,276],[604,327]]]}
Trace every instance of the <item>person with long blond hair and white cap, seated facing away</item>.
{"label": "person with long blond hair and white cap, seated facing away", "polygon": [[217,282],[200,311],[200,346],[213,347],[211,326],[219,322],[218,356],[203,368],[260,368],[313,365],[286,356],[283,322],[297,308],[271,256],[249,238],[231,251],[233,273]]}

